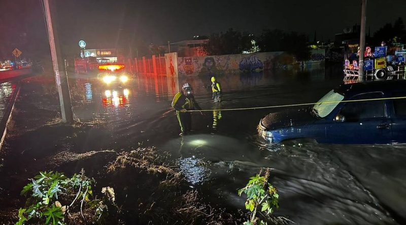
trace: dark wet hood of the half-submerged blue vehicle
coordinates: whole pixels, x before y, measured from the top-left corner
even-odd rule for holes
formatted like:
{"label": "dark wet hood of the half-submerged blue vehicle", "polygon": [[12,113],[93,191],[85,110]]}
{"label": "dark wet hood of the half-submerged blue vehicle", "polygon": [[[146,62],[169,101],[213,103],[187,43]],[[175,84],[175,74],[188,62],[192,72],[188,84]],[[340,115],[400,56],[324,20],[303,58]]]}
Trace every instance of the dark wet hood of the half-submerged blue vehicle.
{"label": "dark wet hood of the half-submerged blue vehicle", "polygon": [[262,118],[261,125],[266,130],[270,130],[311,124],[317,119],[311,114],[310,109],[311,108],[304,108],[270,113]]}

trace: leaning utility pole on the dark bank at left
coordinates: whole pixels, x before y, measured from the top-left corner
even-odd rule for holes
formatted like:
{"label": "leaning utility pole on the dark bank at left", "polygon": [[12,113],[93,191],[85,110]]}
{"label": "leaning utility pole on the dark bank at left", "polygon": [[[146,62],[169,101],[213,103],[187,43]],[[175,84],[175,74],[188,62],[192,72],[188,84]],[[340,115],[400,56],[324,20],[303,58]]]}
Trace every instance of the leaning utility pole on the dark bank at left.
{"label": "leaning utility pole on the dark bank at left", "polygon": [[[49,34],[49,46],[51,47],[52,63],[54,66],[55,81],[59,93],[59,103],[62,114],[62,122],[73,124],[73,112],[69,84],[67,83],[66,68],[61,58],[59,49],[59,39],[56,30],[56,23],[52,21],[55,16],[55,0],[44,0],[45,15],[47,18],[47,28]],[[53,23],[54,22],[54,23]]]}

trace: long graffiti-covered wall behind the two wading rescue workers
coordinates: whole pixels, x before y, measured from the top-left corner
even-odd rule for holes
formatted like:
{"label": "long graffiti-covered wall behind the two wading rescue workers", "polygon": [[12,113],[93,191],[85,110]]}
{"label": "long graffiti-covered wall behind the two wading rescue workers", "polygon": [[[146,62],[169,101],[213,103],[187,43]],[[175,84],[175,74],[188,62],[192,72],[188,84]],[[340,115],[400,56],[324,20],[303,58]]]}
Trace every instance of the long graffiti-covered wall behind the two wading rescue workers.
{"label": "long graffiti-covered wall behind the two wading rescue workers", "polygon": [[222,75],[237,71],[262,71],[289,65],[293,58],[284,52],[256,54],[178,57],[180,75]]}

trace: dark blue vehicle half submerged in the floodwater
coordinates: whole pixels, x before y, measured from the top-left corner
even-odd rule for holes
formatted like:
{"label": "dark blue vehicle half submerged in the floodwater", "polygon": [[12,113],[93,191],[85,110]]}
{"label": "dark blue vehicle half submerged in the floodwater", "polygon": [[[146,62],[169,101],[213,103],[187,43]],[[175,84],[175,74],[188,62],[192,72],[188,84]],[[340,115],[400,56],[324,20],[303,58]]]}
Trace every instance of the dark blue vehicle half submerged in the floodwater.
{"label": "dark blue vehicle half submerged in the floodwater", "polygon": [[[266,115],[258,132],[273,143],[406,143],[406,99],[398,97],[406,97],[406,80],[342,84],[311,107]],[[343,102],[348,100],[355,101]]]}

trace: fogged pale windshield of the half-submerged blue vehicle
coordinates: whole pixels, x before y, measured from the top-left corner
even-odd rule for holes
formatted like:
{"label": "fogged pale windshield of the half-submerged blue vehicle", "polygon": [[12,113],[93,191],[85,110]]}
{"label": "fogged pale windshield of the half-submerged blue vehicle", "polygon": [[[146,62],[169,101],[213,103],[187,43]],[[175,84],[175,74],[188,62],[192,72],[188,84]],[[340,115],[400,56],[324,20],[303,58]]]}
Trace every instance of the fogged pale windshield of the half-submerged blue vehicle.
{"label": "fogged pale windshield of the half-submerged blue vehicle", "polygon": [[343,99],[344,99],[343,95],[334,92],[334,90],[331,90],[329,93],[323,96],[323,98],[321,98],[316,104],[314,104],[312,111],[321,118],[326,117]]}

